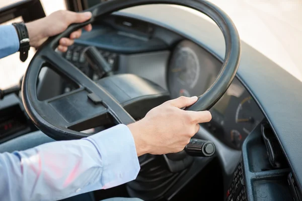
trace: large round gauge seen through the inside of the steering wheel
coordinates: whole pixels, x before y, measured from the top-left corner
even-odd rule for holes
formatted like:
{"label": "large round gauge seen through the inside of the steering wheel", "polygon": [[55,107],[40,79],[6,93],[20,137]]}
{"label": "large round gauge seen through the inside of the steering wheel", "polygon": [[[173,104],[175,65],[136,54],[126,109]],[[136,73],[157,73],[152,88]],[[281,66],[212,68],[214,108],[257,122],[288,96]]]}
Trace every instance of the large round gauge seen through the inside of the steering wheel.
{"label": "large round gauge seen through the inside of the steering wheel", "polygon": [[[195,90],[199,79],[200,64],[195,51],[190,46],[180,45],[173,52],[169,67],[171,96],[189,95]],[[191,94],[194,95],[194,94]]]}

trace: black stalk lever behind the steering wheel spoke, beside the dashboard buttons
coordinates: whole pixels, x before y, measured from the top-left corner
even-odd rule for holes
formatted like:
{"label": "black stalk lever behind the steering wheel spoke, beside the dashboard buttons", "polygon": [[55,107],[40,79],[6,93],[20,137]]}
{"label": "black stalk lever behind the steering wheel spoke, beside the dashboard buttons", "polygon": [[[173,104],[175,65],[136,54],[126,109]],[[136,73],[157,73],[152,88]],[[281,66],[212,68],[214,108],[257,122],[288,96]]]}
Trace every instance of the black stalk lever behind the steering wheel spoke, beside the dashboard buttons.
{"label": "black stalk lever behind the steering wheel spoke, beside the dashboard buttons", "polygon": [[96,47],[89,46],[85,48],[83,54],[88,63],[91,65],[91,68],[97,72],[99,78],[113,75],[111,66]]}

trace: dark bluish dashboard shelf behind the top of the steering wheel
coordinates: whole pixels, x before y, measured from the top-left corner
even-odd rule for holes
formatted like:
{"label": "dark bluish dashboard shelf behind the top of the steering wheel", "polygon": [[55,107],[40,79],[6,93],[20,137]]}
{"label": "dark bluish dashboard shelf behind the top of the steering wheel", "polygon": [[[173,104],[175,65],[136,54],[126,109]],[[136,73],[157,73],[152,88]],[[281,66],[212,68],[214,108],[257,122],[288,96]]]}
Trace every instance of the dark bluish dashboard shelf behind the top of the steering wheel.
{"label": "dark bluish dashboard shelf behind the top of the steering wheel", "polygon": [[124,54],[167,49],[168,45],[160,37],[153,37],[155,28],[133,18],[108,16],[97,21],[91,32],[84,32],[77,43]]}

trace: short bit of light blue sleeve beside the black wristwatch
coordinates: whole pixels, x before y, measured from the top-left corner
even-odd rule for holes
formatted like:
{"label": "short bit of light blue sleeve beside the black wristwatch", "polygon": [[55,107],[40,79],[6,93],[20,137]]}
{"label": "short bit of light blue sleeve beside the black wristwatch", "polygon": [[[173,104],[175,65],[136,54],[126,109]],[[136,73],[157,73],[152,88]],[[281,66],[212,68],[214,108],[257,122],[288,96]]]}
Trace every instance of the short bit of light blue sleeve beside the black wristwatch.
{"label": "short bit of light blue sleeve beside the black wristwatch", "polygon": [[0,26],[0,58],[19,50],[19,37],[13,25]]}

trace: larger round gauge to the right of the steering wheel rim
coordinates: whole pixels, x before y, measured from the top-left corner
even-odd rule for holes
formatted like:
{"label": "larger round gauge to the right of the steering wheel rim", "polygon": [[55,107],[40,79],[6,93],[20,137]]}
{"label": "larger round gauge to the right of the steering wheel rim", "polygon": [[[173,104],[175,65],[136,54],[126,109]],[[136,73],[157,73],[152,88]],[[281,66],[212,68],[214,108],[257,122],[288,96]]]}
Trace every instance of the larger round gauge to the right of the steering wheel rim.
{"label": "larger round gauge to the right of the steering wheel rim", "polygon": [[257,125],[258,113],[257,104],[251,96],[243,99],[236,110],[236,123],[239,124],[246,134],[249,134]]}

